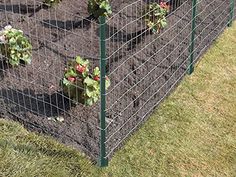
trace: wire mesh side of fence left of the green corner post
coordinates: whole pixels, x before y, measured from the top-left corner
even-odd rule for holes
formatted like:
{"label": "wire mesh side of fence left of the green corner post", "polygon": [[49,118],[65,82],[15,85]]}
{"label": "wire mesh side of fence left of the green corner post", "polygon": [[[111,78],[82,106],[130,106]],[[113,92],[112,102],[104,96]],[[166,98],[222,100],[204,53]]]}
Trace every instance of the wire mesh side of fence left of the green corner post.
{"label": "wire mesh side of fence left of the green corner post", "polygon": [[11,67],[1,55],[0,115],[52,135],[96,159],[99,103],[74,105],[60,87],[68,60],[79,55],[89,59],[91,69],[99,66],[99,25],[82,5],[62,1],[45,8],[42,1],[0,1],[0,28],[11,25],[22,30],[33,46],[29,65]]}

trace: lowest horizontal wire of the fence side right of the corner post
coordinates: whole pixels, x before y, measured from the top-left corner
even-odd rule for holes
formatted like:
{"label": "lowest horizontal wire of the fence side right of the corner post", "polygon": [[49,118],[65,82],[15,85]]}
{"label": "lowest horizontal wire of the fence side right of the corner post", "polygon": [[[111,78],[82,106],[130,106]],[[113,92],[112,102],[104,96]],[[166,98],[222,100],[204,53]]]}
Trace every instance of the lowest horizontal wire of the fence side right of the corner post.
{"label": "lowest horizontal wire of the fence side right of the corner post", "polygon": [[[224,26],[224,27],[226,27],[227,26],[227,24]],[[219,31],[219,33],[218,33],[218,35],[222,32],[224,30],[224,28],[222,28],[222,30],[221,31]],[[218,36],[217,35],[217,36]],[[216,36],[216,37],[217,37]],[[214,40],[214,39],[213,39]],[[212,41],[213,41],[212,40]],[[208,43],[208,45],[210,45],[211,43]],[[205,48],[207,48],[208,46],[205,46],[203,49],[205,49]],[[202,49],[202,50],[203,50]],[[199,55],[200,56],[200,55]],[[195,62],[195,61],[197,61],[198,60],[198,58],[195,58],[194,59],[194,61],[193,61],[193,63]],[[184,71],[184,73],[182,73],[182,75],[179,77],[179,79],[178,80],[176,80],[175,81],[175,83],[171,86],[171,88],[165,93],[165,95],[161,98],[161,100],[159,100],[154,106],[152,106],[150,109],[149,109],[149,111],[147,111],[146,112],[146,114],[141,118],[141,120],[138,122],[138,123],[136,123],[136,125],[120,140],[120,141],[118,141],[118,143],[116,143],[116,145],[107,153],[107,156],[106,156],[106,158],[108,158],[113,152],[114,152],[114,150],[115,149],[117,149],[118,147],[119,147],[119,145],[143,122],[143,120],[146,118],[146,116],[151,112],[151,111],[153,111],[153,109],[158,105],[158,104],[160,104],[160,102],[161,101],[163,101],[163,99],[169,94],[169,92],[175,87],[175,85],[182,79],[182,77],[186,74],[186,72],[188,71],[188,69],[189,69],[189,66],[188,66],[188,68]],[[176,70],[177,71],[177,70]],[[156,93],[155,93],[156,94]],[[152,98],[155,94],[153,94],[150,98]],[[135,114],[133,114],[133,115],[135,115]]]}

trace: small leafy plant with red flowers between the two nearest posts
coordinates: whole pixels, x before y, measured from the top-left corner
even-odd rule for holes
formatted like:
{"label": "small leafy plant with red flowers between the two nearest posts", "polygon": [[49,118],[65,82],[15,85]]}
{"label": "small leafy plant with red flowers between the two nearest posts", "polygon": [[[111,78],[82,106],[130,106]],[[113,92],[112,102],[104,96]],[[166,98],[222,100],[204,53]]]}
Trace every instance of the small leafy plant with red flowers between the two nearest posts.
{"label": "small leafy plant with red flowers between the two nearest posts", "polygon": [[159,33],[167,26],[166,15],[169,12],[169,5],[165,2],[151,3],[143,12],[144,20],[153,33]]}

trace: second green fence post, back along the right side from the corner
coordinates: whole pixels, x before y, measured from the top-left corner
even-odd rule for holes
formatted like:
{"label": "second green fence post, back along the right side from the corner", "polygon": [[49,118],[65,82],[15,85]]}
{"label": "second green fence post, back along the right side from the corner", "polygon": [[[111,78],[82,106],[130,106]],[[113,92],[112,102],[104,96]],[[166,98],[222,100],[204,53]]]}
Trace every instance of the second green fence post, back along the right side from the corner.
{"label": "second green fence post, back along the right side from the corner", "polygon": [[193,60],[194,60],[194,45],[195,45],[195,31],[196,31],[196,11],[197,11],[197,0],[192,0],[192,35],[190,44],[190,57],[189,57],[189,69],[188,74],[192,74],[194,71]]}

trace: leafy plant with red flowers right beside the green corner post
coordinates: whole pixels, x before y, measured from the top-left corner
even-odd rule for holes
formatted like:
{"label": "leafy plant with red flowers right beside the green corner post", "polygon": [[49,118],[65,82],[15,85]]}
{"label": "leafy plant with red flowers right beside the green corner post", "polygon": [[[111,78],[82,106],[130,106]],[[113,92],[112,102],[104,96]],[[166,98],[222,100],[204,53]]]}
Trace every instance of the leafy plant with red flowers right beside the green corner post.
{"label": "leafy plant with red flowers right beside the green corner post", "polygon": [[[69,98],[91,106],[100,97],[100,70],[96,67],[90,73],[89,61],[77,56],[75,60],[68,61],[61,85]],[[106,89],[109,86],[110,79],[106,77]]]}

